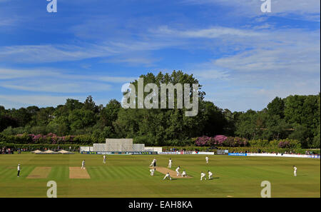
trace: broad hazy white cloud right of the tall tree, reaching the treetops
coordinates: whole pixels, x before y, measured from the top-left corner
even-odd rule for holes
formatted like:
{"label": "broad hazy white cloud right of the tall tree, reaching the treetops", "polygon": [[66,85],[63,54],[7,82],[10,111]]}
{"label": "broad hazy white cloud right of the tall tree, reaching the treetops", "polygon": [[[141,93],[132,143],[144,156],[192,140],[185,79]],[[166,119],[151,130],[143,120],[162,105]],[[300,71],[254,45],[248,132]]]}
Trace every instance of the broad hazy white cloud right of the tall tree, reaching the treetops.
{"label": "broad hazy white cloud right of the tall tree, reaching the treetops", "polygon": [[[233,45],[239,39],[225,38]],[[275,96],[320,92],[320,31],[274,30],[242,39],[243,49],[188,67],[205,98],[233,111],[261,110]],[[213,71],[214,70],[214,71]]]}

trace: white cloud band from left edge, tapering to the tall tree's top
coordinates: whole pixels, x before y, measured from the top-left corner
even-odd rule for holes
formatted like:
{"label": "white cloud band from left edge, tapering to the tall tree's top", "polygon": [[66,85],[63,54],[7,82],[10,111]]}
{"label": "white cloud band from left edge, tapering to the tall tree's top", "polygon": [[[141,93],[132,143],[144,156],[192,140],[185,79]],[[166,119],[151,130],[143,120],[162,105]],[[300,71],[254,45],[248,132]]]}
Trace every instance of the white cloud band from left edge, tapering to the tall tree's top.
{"label": "white cloud band from left edge, tapering to the tall tree's top", "polygon": [[[55,69],[1,69],[0,87],[17,91],[76,94],[111,91],[136,77],[65,74]],[[111,83],[111,84],[110,84]]]}

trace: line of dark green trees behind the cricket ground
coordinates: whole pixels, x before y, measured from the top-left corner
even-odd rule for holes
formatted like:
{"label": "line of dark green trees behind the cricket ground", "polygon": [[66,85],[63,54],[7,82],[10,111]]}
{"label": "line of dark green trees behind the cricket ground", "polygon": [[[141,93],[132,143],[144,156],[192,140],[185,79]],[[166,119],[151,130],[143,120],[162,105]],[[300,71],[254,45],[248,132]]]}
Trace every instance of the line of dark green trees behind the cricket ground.
{"label": "line of dark green trees behind the cricket ground", "polygon": [[[142,75],[144,83],[198,84],[183,71]],[[137,81],[133,82],[137,86]],[[153,146],[186,146],[198,136],[239,136],[267,141],[285,138],[300,141],[302,148],[320,148],[320,93],[309,96],[275,97],[262,111],[232,112],[205,101],[199,86],[198,115],[187,117],[185,109],[124,109],[116,99],[96,105],[67,99],[56,107],[6,109],[0,106],[2,140],[18,134],[87,136],[92,141],[105,138],[134,138]],[[146,94],[147,95],[147,94]],[[159,95],[160,96],[160,95]],[[176,97],[176,96],[175,96]],[[176,104],[175,104],[176,105]],[[8,142],[10,143],[10,142]]]}

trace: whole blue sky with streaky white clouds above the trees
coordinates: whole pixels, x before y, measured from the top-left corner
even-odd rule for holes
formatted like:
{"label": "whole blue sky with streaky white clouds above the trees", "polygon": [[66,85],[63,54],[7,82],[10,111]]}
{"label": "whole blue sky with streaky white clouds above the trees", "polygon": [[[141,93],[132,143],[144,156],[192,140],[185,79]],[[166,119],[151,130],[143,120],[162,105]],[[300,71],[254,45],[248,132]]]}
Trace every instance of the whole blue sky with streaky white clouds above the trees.
{"label": "whole blue sky with streaky white clouds above the trees", "polygon": [[320,0],[0,0],[0,105],[121,100],[141,74],[182,70],[231,111],[320,92]]}

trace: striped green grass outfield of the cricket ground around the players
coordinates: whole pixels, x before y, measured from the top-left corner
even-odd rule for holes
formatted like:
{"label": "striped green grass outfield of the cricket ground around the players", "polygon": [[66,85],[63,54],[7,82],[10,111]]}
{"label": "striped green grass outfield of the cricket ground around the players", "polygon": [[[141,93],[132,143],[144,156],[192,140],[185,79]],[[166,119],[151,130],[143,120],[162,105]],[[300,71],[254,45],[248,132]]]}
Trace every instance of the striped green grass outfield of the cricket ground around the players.
{"label": "striped green grass outfield of the cricket ground around the players", "polygon": [[[156,157],[166,167],[168,158],[193,178],[163,181],[163,173],[150,176],[148,166]],[[270,181],[272,197],[320,198],[320,159],[245,156],[156,155],[0,155],[0,197],[46,197],[46,183],[57,183],[58,197],[260,197],[260,183]],[[69,166],[86,168],[91,179],[70,179]],[[21,177],[16,166],[21,163]],[[292,166],[297,166],[297,177]],[[26,178],[36,166],[51,166],[45,179]],[[214,179],[200,181],[200,171],[212,171]]]}

